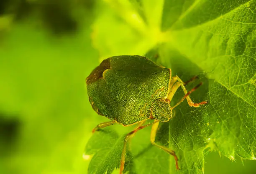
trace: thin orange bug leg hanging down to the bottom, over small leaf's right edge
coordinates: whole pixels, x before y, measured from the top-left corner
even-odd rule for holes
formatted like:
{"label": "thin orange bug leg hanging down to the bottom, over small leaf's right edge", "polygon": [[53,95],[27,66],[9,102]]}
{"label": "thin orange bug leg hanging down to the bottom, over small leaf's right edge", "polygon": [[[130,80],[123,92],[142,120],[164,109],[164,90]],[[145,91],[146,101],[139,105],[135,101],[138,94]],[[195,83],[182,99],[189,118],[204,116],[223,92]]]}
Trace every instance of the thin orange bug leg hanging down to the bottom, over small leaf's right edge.
{"label": "thin orange bug leg hanging down to the bottom, over small leaf's right edge", "polygon": [[131,131],[130,133],[128,133],[126,136],[125,136],[125,139],[124,139],[124,143],[123,143],[123,151],[122,151],[122,156],[121,156],[121,165],[120,165],[120,174],[122,174],[123,172],[123,169],[124,169],[124,164],[125,164],[125,154],[126,154],[126,146],[127,146],[127,142],[128,140],[133,137],[135,135],[135,133],[140,130],[140,129],[143,129],[145,127],[148,127],[150,126],[151,124],[154,124],[153,123],[149,123],[149,124],[146,124],[144,126],[141,126],[143,123],[145,123],[146,121],[144,122],[141,122],[138,124],[138,127],[136,127],[136,129],[134,129],[133,131]]}

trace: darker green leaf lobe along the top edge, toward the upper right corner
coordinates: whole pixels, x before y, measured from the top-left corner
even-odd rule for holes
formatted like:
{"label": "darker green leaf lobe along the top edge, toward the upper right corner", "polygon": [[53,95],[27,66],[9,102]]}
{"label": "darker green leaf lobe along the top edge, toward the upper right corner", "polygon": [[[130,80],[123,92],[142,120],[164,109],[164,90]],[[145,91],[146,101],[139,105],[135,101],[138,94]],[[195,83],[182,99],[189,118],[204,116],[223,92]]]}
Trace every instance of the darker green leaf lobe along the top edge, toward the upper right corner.
{"label": "darker green leaf lobe along the top edge, toward the upper right corner", "polygon": [[[190,28],[221,18],[252,0],[166,0],[163,11],[163,28]],[[248,4],[248,3],[247,3]]]}

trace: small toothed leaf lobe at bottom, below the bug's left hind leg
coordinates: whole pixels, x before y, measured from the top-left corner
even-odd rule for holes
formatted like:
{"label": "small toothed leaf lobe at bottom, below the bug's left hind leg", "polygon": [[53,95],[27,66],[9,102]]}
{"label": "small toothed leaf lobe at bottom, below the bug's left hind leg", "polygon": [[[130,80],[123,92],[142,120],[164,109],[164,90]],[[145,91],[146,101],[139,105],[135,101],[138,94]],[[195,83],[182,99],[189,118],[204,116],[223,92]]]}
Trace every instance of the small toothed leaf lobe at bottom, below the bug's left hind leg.
{"label": "small toothed leaf lobe at bottom, below the bug's left hind leg", "polygon": [[[85,150],[86,155],[94,154],[88,168],[89,174],[111,174],[115,168],[120,167],[124,137],[108,128],[100,129],[93,134]],[[126,155],[126,164],[131,163],[129,151]],[[130,167],[131,164],[126,165],[125,169]]]}

